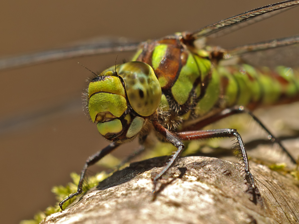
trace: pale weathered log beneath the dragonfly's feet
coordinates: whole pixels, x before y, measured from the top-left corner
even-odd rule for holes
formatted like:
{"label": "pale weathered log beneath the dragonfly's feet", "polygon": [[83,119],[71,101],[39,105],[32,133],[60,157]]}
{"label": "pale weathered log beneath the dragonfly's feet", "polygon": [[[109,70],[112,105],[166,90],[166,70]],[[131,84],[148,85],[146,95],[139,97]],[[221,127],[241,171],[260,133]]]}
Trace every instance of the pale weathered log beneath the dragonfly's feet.
{"label": "pale weathered log beneath the dragonfly's feet", "polygon": [[42,223],[299,223],[299,184],[289,174],[250,162],[261,193],[254,204],[236,163],[184,157],[160,181],[167,157],[132,163]]}

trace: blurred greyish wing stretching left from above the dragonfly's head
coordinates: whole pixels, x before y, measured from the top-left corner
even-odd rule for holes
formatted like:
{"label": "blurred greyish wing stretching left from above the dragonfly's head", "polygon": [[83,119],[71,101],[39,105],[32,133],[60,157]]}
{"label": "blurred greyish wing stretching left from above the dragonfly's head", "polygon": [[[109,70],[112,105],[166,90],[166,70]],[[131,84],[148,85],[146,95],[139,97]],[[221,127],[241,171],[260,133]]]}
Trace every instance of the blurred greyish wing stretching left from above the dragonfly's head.
{"label": "blurred greyish wing stretching left from above the dragonfly's head", "polygon": [[135,51],[138,45],[139,42],[123,37],[99,38],[73,46],[3,58],[0,59],[0,70],[95,54]]}

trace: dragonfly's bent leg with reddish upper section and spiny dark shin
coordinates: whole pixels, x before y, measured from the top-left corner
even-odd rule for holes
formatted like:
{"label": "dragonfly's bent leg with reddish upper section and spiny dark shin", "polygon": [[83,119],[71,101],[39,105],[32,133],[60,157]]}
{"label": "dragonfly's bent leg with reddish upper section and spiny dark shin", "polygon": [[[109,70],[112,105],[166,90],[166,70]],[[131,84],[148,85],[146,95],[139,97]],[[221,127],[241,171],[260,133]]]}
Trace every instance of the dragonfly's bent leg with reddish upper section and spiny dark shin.
{"label": "dragonfly's bent leg with reddish upper section and spiny dark shin", "polygon": [[253,202],[257,202],[257,197],[260,197],[260,192],[255,185],[254,177],[250,172],[248,157],[246,153],[246,149],[243,143],[243,140],[240,134],[237,132],[236,129],[226,128],[226,129],[215,129],[215,130],[203,130],[203,131],[186,131],[186,132],[179,132],[176,134],[181,140],[196,140],[196,139],[207,139],[207,138],[222,138],[222,137],[236,137],[239,143],[239,150],[241,155],[241,159],[243,160],[244,164],[244,173],[245,173],[245,180],[248,183],[248,192],[251,192],[253,195]]}

